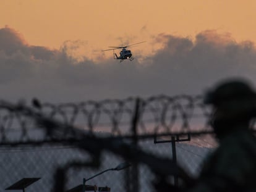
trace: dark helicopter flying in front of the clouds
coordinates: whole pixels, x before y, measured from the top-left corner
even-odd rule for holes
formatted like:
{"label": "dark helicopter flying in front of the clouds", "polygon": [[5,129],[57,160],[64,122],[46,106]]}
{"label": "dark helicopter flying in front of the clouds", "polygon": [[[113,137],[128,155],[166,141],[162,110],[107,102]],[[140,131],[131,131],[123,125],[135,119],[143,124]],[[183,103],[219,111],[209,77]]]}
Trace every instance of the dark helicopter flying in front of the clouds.
{"label": "dark helicopter flying in front of the clouds", "polygon": [[[142,41],[139,43],[135,43],[135,44],[140,44],[140,43],[145,43],[146,41]],[[134,46],[135,44],[129,44],[127,46],[123,46],[123,47],[115,47],[115,46],[109,46],[109,48],[113,48],[113,49],[106,49],[103,51],[110,51],[113,50],[113,55],[114,55],[114,59],[120,59],[120,62],[124,61],[124,59],[129,59],[130,61],[134,60],[134,57],[132,57],[132,52],[130,50],[127,50],[126,48],[130,47],[130,46]],[[120,51],[120,56],[117,56],[117,54],[114,52],[114,50],[116,49],[122,49],[122,51]]]}

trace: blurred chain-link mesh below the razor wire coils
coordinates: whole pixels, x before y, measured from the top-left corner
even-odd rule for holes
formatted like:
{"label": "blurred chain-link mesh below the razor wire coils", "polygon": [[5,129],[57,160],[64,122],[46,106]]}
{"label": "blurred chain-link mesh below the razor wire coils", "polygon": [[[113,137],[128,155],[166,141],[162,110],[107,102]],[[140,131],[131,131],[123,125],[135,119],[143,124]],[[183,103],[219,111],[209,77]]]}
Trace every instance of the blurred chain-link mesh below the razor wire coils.
{"label": "blurred chain-link mesh below the razor wire coils", "polygon": [[[200,164],[203,158],[213,148],[207,148],[200,142],[205,143],[201,138],[186,143],[176,143],[177,163],[188,170],[192,175],[197,176],[200,171]],[[195,142],[195,143],[194,143]],[[192,143],[192,144],[190,144]],[[207,143],[208,144],[208,143]],[[173,157],[171,143],[155,144],[153,140],[143,140],[139,146],[158,157]],[[25,146],[1,148],[1,188],[4,190],[8,186],[17,182],[21,178],[40,177],[41,179],[29,186],[26,191],[51,191],[54,185],[54,174],[57,167],[66,165],[68,162],[87,162],[89,155],[85,151],[73,146]],[[103,152],[101,165],[97,169],[90,167],[70,168],[67,171],[66,188],[70,189],[80,185],[83,178],[89,178],[102,170],[116,167],[120,162],[124,162],[120,156],[111,152]],[[103,173],[87,182],[87,185],[108,186],[111,191],[126,191],[126,170],[119,172],[111,171]],[[132,178],[130,178],[132,182]],[[140,191],[152,191],[151,182],[154,174],[147,165],[139,165],[139,187]]]}

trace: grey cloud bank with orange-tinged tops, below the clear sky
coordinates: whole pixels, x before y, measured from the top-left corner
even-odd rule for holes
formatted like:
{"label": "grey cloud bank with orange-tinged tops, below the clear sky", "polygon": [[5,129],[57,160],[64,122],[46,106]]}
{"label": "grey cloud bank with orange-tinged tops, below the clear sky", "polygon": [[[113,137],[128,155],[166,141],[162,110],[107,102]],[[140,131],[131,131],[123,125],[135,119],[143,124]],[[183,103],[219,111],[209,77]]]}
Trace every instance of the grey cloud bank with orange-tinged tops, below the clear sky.
{"label": "grey cloud bank with orange-tinged tops, below the clear sky", "polygon": [[[12,28],[0,29],[1,98],[68,102],[158,94],[200,94],[229,77],[256,83],[256,49],[250,41],[203,31],[195,40],[160,34],[164,48],[141,62],[76,61],[66,48],[31,46]],[[140,56],[136,56],[137,58]]]}

